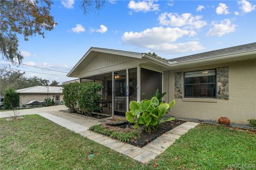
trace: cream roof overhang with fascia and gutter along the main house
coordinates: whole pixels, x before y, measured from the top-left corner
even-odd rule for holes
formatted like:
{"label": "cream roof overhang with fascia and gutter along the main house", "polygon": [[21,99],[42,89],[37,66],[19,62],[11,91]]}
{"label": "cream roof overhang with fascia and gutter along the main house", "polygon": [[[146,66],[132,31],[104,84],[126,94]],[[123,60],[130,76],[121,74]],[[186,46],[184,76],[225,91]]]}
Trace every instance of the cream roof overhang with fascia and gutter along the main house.
{"label": "cream roof overhang with fascia and gutter along the main house", "polygon": [[67,74],[67,77],[77,77],[77,75],[81,73],[83,69],[94,60],[96,56],[99,55],[99,53],[107,53],[107,54],[114,54],[114,55],[142,59],[147,61],[150,64],[160,66],[160,68],[163,71],[182,69],[186,67],[195,67],[195,66],[202,66],[202,65],[243,61],[243,60],[250,60],[250,59],[256,58],[256,50],[249,50],[246,52],[231,53],[226,55],[219,55],[219,56],[213,56],[213,57],[208,57],[203,59],[201,58],[201,59],[192,60],[192,61],[175,63],[175,62],[164,61],[160,58],[151,56],[147,53],[134,53],[134,52],[126,52],[122,50],[91,47],[84,54],[81,60],[77,62],[77,64],[73,67],[73,69],[71,69],[71,71]]}

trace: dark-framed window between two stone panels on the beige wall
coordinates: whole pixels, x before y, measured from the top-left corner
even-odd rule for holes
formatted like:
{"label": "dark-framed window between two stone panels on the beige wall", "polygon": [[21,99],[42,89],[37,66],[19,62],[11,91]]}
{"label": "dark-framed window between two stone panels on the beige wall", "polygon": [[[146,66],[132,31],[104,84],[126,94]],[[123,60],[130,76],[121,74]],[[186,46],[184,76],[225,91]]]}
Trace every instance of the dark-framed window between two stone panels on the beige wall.
{"label": "dark-framed window between two stone panels on the beige wall", "polygon": [[184,74],[184,97],[215,98],[216,97],[216,71],[203,70],[186,72]]}

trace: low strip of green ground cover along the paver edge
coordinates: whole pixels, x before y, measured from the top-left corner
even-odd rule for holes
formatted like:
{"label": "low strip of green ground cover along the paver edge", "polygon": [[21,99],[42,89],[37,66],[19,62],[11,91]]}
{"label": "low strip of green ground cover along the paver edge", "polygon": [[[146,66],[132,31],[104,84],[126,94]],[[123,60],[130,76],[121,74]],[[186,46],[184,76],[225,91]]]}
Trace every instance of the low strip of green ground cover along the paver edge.
{"label": "low strip of green ground cover along the paver edge", "polygon": [[131,139],[136,139],[139,137],[139,133],[132,131],[132,132],[116,132],[116,131],[111,131],[108,129],[104,129],[101,124],[93,125],[91,126],[90,130],[106,135],[110,138],[114,138],[117,140],[120,140],[122,142],[129,142]]}

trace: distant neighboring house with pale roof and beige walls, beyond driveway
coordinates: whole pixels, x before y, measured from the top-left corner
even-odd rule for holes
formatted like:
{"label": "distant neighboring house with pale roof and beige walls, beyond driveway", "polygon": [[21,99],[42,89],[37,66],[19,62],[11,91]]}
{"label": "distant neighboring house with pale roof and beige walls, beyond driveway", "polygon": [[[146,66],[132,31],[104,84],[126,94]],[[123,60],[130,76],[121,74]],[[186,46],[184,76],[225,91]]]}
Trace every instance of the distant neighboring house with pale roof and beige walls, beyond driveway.
{"label": "distant neighboring house with pale roof and beige walls, beyond driveway", "polygon": [[45,98],[54,98],[55,104],[59,105],[63,100],[62,87],[34,86],[17,90],[20,95],[20,106],[30,101],[44,101]]}

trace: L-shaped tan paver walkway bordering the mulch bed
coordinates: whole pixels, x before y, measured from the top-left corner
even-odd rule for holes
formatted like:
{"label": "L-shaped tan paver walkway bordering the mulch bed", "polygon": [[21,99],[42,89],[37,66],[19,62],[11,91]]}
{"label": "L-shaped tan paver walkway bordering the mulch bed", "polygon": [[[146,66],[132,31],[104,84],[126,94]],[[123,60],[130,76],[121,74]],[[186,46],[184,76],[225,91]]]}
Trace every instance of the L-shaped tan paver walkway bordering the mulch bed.
{"label": "L-shaped tan paver walkway bordering the mulch bed", "polygon": [[138,160],[141,163],[147,163],[151,159],[155,159],[156,156],[164,152],[165,149],[170,147],[172,143],[179,139],[182,134],[185,134],[188,132],[188,130],[195,128],[195,126],[198,124],[199,123],[195,122],[185,122],[176,128],[164,133],[142,148],[135,147],[133,145],[106,137],[105,135],[92,131],[83,131],[79,133],[88,139],[91,139],[121,154]]}

